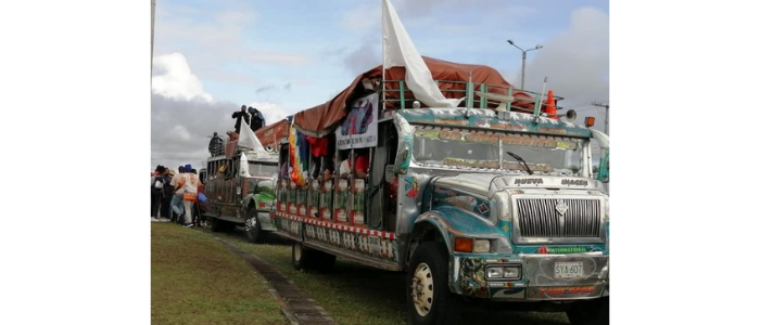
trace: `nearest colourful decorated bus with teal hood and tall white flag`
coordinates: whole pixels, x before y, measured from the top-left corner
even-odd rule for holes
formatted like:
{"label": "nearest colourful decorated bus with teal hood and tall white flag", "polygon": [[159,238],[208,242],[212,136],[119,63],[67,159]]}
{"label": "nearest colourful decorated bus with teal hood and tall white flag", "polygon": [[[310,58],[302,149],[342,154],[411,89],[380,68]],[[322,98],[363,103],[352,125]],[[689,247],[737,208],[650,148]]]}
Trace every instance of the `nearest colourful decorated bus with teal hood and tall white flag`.
{"label": "nearest colourful decorated bus with teal hood and tall white flag", "polygon": [[383,4],[383,65],[295,114],[280,143],[273,218],[293,266],[406,272],[413,324],[486,300],[607,324],[608,136],[550,91],[420,56]]}

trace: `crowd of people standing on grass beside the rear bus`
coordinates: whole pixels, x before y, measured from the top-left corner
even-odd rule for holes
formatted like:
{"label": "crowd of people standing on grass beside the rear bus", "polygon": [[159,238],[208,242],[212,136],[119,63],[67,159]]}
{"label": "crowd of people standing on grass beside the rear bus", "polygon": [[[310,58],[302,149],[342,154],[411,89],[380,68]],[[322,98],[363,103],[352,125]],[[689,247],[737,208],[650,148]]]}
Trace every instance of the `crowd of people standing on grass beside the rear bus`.
{"label": "crowd of people standing on grass beside the rear bus", "polygon": [[203,183],[190,164],[177,170],[175,173],[159,165],[151,173],[151,220],[200,226],[199,195],[203,194]]}

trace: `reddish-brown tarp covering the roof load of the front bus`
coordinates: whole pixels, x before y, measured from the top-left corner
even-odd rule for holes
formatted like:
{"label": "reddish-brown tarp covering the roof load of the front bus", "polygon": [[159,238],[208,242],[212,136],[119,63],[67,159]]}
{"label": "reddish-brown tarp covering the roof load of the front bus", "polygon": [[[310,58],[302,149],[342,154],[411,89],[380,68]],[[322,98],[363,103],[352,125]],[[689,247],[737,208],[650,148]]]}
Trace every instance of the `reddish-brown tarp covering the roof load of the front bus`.
{"label": "reddish-brown tarp covering the roof load of the front bus", "polygon": [[[474,83],[486,83],[489,84],[490,93],[507,94],[507,88],[511,87],[509,82],[502,78],[502,75],[496,72],[496,69],[476,64],[461,64],[453,63],[443,60],[432,58],[422,56],[425,64],[430,69],[434,80],[446,80],[446,81],[458,81],[459,83],[453,82],[440,82],[439,88],[442,90],[443,95],[446,99],[461,99],[465,96],[464,90],[466,89],[466,82],[470,79],[470,73],[472,73],[472,82]],[[385,80],[404,80],[406,75],[406,69],[404,67],[393,67],[385,70]],[[335,95],[332,100],[325,104],[314,106],[308,109],[304,109],[295,114],[294,123],[295,127],[311,136],[321,138],[330,133],[338,122],[343,119],[346,115],[346,107],[354,100],[372,92],[373,90],[365,90],[362,80],[380,80],[382,79],[382,66],[378,65],[371,70],[368,70],[359,76],[357,76],[351,84]],[[501,88],[494,88],[494,86]],[[385,84],[385,99],[387,100],[398,100],[398,82],[387,82]],[[460,90],[458,92],[451,90]],[[479,91],[480,89],[476,89]],[[534,102],[533,95],[515,91],[512,94],[516,102],[512,103],[512,107],[518,108],[517,110],[532,110]],[[410,103],[415,100],[414,94],[406,90],[404,93],[404,99],[406,102],[406,107],[411,107]],[[478,103],[480,96],[476,93],[474,103]],[[459,106],[464,106],[466,101],[463,101]],[[395,104],[395,105],[394,105]],[[385,108],[400,108],[396,103],[385,103]],[[476,105],[477,106],[477,105]],[[489,105],[490,108],[495,108],[495,104]],[[524,109],[519,109],[524,108]],[[261,131],[261,130],[259,130]]]}

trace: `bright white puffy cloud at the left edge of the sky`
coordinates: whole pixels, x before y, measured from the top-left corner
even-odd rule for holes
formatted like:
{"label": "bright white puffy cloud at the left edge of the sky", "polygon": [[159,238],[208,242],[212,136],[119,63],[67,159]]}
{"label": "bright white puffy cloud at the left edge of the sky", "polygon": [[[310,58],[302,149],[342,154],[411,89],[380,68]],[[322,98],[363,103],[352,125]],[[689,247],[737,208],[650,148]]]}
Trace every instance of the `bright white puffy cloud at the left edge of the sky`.
{"label": "bright white puffy cloud at the left edge of the sky", "polygon": [[201,80],[192,74],[182,53],[174,52],[155,56],[153,75],[154,93],[174,100],[213,100],[211,94],[203,91]]}

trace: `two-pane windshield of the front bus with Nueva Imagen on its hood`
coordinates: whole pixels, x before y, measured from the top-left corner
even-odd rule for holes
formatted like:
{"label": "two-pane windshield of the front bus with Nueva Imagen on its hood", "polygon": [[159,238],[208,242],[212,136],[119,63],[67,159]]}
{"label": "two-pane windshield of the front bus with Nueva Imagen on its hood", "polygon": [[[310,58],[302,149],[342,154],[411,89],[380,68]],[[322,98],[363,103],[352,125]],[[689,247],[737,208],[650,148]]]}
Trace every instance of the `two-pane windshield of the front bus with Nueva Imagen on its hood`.
{"label": "two-pane windshield of the front bus with Nueva Imagen on its hood", "polygon": [[436,127],[417,127],[414,134],[413,158],[421,166],[525,172],[512,153],[533,172],[581,172],[579,139]]}

